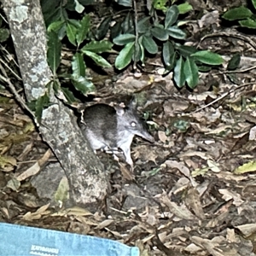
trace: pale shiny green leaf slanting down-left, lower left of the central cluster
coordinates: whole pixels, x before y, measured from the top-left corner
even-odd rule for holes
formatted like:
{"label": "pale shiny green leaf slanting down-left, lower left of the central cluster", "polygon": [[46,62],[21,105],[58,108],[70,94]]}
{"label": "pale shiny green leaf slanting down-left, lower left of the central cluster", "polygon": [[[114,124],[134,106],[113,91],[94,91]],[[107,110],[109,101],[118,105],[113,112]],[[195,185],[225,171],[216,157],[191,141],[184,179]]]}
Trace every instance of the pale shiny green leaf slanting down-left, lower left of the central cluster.
{"label": "pale shiny green leaf slanting down-left, lower left of the central cluster", "polygon": [[119,52],[114,62],[114,66],[117,69],[123,69],[130,64],[132,55],[134,54],[134,44],[134,42],[126,44],[125,48]]}

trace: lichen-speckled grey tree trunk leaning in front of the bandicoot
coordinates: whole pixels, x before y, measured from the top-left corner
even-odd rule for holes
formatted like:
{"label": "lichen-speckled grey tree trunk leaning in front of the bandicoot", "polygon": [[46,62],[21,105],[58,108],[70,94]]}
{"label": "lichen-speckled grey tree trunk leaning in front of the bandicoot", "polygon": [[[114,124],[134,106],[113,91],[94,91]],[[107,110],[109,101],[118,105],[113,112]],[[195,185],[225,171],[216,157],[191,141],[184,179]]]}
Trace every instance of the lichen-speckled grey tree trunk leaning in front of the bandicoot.
{"label": "lichen-speckled grey tree trunk leaning in front of the bandicoot", "polygon": [[[30,102],[44,95],[45,85],[52,79],[40,1],[1,1],[9,20],[26,100]],[[108,189],[102,163],[83,137],[73,112],[53,94],[38,129],[67,175],[73,201],[87,207],[102,201]]]}

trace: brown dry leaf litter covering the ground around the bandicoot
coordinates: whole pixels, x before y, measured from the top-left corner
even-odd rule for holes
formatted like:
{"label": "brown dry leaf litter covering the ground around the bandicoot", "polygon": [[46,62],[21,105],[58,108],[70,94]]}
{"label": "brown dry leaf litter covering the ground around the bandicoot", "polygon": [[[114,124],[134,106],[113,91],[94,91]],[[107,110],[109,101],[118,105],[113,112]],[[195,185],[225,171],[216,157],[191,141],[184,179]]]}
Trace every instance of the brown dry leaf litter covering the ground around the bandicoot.
{"label": "brown dry leaf litter covering the ground around the bandicoot", "polygon": [[[217,10],[207,12],[191,24],[194,36],[216,24],[221,30],[218,22]],[[253,67],[250,46],[230,40],[203,38],[200,47],[228,57],[243,52],[241,67]],[[236,73],[236,79],[255,83],[254,73]],[[98,90],[107,102],[136,93],[156,141],[134,141],[133,173],[122,160],[100,154],[111,166],[112,185],[101,212],[66,207],[61,176],[53,192],[45,178],[32,182],[55,158],[15,102],[0,102],[0,220],[111,238],[136,245],[141,255],[255,255],[255,84],[237,87],[211,71],[193,92],[177,91],[171,76],[162,77],[158,67],[150,75],[123,73]]]}

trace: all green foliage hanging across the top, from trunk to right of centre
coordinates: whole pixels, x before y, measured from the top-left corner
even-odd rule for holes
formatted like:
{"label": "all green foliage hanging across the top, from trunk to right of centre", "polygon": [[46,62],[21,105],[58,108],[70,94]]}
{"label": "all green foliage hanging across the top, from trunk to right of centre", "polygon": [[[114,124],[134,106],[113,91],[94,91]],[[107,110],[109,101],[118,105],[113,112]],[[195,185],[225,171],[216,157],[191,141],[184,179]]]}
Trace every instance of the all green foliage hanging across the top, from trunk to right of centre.
{"label": "all green foliage hanging across the top, from trunk to right of centre", "polygon": [[[56,1],[58,2],[58,1]],[[183,22],[179,15],[186,14],[192,9],[187,3],[175,5],[176,1],[154,0],[148,2],[148,15],[139,15],[137,24],[133,12],[127,10],[126,15],[119,19],[113,15],[105,16],[97,28],[91,25],[90,15],[81,15],[81,18],[69,18],[70,10],[80,14],[84,12],[84,6],[91,0],[67,0],[66,4],[52,3],[42,0],[45,22],[49,32],[49,67],[57,75],[61,63],[61,48],[63,42],[68,41],[67,47],[73,49],[72,68],[70,74],[62,74],[59,77],[69,79],[73,88],[87,95],[95,90],[94,85],[86,78],[85,60],[93,61],[99,67],[111,67],[110,63],[101,55],[112,50],[114,45],[117,57],[114,67],[119,70],[139,62],[144,65],[146,56],[162,55],[162,61],[166,67],[165,74],[174,72],[174,81],[177,87],[188,85],[194,89],[198,83],[199,70],[210,70],[212,66],[220,65],[222,58],[210,51],[198,51],[197,49],[182,45],[186,39],[183,31]],[[131,0],[115,1],[125,8],[133,8]],[[149,5],[149,3],[151,5]],[[73,16],[74,17],[74,16]],[[110,26],[115,21],[113,26]],[[108,33],[110,32],[110,33]],[[104,40],[107,35],[112,39],[111,43]],[[66,40],[66,41],[65,41]],[[73,99],[72,88],[70,93],[67,87],[63,90],[55,86],[55,91],[62,90],[67,101]]]}

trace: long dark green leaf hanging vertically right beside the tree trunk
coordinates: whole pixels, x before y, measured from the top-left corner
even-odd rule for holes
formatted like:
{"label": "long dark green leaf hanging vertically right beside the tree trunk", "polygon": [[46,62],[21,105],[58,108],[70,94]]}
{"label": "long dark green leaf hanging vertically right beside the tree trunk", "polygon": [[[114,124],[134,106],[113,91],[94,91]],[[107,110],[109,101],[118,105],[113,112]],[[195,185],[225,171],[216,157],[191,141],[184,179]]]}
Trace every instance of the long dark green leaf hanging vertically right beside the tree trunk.
{"label": "long dark green leaf hanging vertically right beside the tree trunk", "polygon": [[48,33],[47,61],[51,71],[55,75],[61,62],[61,41],[55,32]]}

